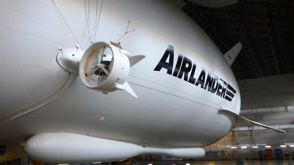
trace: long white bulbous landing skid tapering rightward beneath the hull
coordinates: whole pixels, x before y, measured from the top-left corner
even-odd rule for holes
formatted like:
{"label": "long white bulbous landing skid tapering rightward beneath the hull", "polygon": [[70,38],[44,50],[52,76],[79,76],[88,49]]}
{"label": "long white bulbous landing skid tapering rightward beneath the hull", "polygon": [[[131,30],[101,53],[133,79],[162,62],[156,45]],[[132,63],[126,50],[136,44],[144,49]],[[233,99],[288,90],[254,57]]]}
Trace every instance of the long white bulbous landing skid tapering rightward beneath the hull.
{"label": "long white bulbous landing skid tapering rightward beneath the hull", "polygon": [[166,147],[103,139],[76,133],[39,133],[28,139],[24,152],[47,164],[78,164],[126,160],[140,154],[163,154],[174,158],[199,158],[202,147]]}

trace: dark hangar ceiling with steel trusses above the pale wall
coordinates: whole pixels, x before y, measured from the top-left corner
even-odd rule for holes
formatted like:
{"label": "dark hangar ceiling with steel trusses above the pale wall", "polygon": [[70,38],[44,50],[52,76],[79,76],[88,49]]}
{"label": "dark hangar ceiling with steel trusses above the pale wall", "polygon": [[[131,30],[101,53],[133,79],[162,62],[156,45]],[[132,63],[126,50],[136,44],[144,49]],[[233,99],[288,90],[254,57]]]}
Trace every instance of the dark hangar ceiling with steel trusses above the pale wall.
{"label": "dark hangar ceiling with steel trusses above the pale wall", "polygon": [[237,80],[294,73],[293,3],[241,1],[208,8],[184,0],[182,8],[222,53],[239,41],[243,48],[231,68]]}

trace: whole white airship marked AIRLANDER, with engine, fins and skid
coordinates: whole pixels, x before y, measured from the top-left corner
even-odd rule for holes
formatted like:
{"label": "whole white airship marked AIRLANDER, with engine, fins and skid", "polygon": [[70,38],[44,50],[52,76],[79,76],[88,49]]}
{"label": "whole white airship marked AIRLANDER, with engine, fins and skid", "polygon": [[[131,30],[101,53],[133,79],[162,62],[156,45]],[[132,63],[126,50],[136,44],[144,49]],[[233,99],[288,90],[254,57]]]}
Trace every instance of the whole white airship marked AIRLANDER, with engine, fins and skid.
{"label": "whole white airship marked AIRLANDER, with engine, fins and skid", "polygon": [[[202,1],[204,2],[204,1]],[[0,161],[195,158],[238,119],[222,54],[171,1],[1,1]]]}

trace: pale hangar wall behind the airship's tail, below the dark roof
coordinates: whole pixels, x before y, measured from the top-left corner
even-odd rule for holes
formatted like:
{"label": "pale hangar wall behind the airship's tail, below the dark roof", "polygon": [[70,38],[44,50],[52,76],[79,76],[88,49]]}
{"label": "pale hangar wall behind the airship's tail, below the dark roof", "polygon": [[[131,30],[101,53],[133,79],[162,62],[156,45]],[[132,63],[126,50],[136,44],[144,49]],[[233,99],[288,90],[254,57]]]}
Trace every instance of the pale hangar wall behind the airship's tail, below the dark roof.
{"label": "pale hangar wall behind the airship's tail, below the dark roof", "polygon": [[[294,147],[289,145],[294,145],[294,74],[239,80],[238,84],[241,116],[287,132],[285,135],[255,126],[257,151],[272,149],[274,156],[274,149],[282,149],[283,153],[288,152],[292,156]],[[239,148],[247,146],[246,149],[239,150],[239,154],[250,156],[247,123],[238,121],[236,130]],[[271,148],[265,148],[265,145],[271,145]],[[286,147],[282,148],[280,145]],[[230,136],[227,135],[210,147],[213,151],[224,150],[230,153]],[[205,151],[208,150],[209,146],[206,146]]]}

